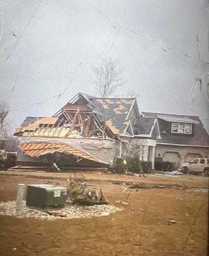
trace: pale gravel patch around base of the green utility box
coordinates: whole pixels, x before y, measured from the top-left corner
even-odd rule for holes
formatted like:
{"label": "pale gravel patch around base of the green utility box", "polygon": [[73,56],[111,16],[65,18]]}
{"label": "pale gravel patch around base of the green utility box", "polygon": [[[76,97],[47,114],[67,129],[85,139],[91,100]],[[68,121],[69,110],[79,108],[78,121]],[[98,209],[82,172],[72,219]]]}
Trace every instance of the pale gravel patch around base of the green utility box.
{"label": "pale gravel patch around base of the green utility box", "polygon": [[122,211],[122,209],[115,207],[113,205],[66,205],[62,209],[37,209],[35,207],[27,207],[25,201],[24,205],[24,214],[22,216],[16,216],[16,201],[1,202],[0,215],[16,216],[17,218],[37,218],[43,220],[56,220],[109,216],[113,212]]}

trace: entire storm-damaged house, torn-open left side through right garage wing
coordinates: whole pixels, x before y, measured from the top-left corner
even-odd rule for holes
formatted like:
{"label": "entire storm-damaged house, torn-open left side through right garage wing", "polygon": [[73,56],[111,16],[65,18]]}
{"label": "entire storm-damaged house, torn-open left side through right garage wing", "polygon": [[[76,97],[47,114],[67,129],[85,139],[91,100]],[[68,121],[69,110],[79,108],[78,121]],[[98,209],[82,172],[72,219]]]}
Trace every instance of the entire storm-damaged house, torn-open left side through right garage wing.
{"label": "entire storm-damaged house, torn-open left side through right garage wing", "polygon": [[[199,133],[205,134],[204,138],[208,140],[199,118],[182,117],[184,120],[179,120],[176,116],[176,120],[164,120],[166,117],[163,119],[162,116],[140,113],[134,98],[100,99],[78,93],[54,116],[25,119],[14,134],[20,141],[17,164],[47,165],[54,161],[48,156],[55,153],[57,165],[62,166],[103,167],[113,163],[116,157],[130,154],[148,163],[148,168],[154,168],[155,157],[161,156],[166,161],[177,161],[178,165],[182,161],[179,148],[184,148],[174,143],[173,138],[182,141],[177,136],[179,134],[187,141],[191,138],[196,141],[188,154],[199,154],[199,148],[195,146],[198,144],[203,148],[204,156],[208,154],[208,144],[205,145],[208,142],[198,143]],[[178,123],[187,124],[185,132],[181,132]],[[189,127],[192,132],[185,134]],[[177,148],[170,144],[177,144]],[[180,157],[175,158],[176,153]]]}

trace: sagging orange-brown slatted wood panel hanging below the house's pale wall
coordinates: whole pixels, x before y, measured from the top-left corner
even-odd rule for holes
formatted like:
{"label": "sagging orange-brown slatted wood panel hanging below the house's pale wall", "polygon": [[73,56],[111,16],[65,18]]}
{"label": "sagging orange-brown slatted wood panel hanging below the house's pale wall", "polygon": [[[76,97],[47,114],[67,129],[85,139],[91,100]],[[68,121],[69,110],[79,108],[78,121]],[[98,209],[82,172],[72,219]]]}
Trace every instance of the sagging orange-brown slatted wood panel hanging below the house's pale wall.
{"label": "sagging orange-brown slatted wood panel hanging below the house's pale wall", "polygon": [[61,152],[65,154],[72,154],[73,156],[82,157],[91,161],[105,163],[96,157],[91,156],[88,152],[78,150],[77,148],[65,143],[22,143],[20,145],[20,149],[23,150],[25,154],[32,157],[38,157],[53,152]]}

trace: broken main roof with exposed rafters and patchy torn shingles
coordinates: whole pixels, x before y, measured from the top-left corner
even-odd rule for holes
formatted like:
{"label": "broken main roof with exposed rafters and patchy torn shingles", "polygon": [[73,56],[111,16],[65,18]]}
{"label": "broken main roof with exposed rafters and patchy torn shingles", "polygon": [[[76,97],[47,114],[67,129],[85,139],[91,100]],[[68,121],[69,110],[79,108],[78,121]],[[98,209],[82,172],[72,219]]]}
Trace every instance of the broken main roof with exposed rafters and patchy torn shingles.
{"label": "broken main roof with exposed rafters and patchy torn shingles", "polygon": [[[135,99],[100,99],[78,93],[51,117],[27,117],[17,136],[54,138],[113,138],[128,125]],[[128,132],[128,131],[127,131]]]}

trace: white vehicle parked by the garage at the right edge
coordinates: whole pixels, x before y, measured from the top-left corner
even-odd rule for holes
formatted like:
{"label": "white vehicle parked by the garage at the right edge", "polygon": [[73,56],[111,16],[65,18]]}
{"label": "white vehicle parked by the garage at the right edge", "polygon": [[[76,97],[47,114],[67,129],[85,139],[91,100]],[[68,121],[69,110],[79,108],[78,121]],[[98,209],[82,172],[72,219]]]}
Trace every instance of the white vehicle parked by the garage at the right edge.
{"label": "white vehicle parked by the garage at the right edge", "polygon": [[196,158],[189,163],[182,164],[181,171],[185,174],[199,174],[205,173],[206,176],[209,175],[209,159],[207,158]]}

